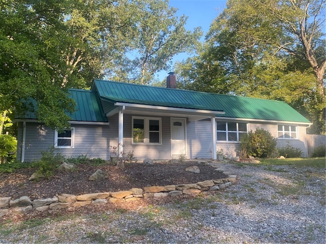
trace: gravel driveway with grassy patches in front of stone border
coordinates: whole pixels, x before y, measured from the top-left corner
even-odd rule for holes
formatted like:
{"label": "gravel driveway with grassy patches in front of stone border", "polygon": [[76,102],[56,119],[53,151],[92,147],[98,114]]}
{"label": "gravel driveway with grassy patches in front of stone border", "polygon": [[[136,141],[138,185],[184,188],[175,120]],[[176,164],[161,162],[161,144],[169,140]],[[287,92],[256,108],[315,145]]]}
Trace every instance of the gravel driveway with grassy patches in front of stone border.
{"label": "gravel driveway with grassy patches in front of stone border", "polygon": [[325,243],[325,170],[221,163],[223,191],[0,224],[0,243]]}

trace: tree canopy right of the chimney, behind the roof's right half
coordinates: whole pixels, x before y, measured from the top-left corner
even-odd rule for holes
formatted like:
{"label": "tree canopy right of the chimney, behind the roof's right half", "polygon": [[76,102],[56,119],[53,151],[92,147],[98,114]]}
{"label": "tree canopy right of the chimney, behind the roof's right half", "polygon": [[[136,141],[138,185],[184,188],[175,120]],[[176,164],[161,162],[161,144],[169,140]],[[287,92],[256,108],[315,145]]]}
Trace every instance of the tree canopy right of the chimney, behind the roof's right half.
{"label": "tree canopy right of the chimney, behind the roof's right half", "polygon": [[324,0],[229,0],[198,55],[176,66],[181,86],[282,100],[324,133],[324,10]]}

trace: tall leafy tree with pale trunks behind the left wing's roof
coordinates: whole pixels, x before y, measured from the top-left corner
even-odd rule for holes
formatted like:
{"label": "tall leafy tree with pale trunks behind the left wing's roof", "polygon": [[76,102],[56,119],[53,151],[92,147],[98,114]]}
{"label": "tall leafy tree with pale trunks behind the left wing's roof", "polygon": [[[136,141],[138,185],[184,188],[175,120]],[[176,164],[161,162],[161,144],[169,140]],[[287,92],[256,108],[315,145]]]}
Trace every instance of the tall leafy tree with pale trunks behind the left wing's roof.
{"label": "tall leafy tree with pale trunks behind the left wing's roof", "polygon": [[69,37],[63,58],[69,67],[70,87],[90,87],[94,78],[110,76],[117,60],[124,58],[139,21],[137,2],[75,1],[65,16]]}

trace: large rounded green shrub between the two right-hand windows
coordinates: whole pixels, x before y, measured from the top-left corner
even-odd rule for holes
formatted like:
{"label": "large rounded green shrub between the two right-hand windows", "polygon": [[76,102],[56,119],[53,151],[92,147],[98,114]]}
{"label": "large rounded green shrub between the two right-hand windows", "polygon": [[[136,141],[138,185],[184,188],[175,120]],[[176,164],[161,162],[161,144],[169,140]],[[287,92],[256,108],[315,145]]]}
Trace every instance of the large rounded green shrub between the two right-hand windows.
{"label": "large rounded green shrub between the two right-hand windows", "polygon": [[242,158],[254,156],[257,158],[271,157],[276,149],[276,139],[262,128],[252,130],[240,138],[239,155]]}

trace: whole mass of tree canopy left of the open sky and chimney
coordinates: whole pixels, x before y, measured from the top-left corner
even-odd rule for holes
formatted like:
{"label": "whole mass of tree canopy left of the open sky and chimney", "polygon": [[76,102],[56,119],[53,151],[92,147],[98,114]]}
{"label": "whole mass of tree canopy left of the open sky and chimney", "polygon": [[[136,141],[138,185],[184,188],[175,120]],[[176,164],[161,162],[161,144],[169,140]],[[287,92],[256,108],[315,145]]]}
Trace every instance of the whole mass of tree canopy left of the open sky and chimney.
{"label": "whole mass of tree canopy left of the open sky and chimney", "polygon": [[162,0],[1,1],[0,128],[6,111],[32,109],[31,99],[40,121],[69,127],[67,89],[94,78],[147,84],[201,35],[175,13]]}

